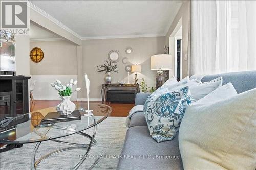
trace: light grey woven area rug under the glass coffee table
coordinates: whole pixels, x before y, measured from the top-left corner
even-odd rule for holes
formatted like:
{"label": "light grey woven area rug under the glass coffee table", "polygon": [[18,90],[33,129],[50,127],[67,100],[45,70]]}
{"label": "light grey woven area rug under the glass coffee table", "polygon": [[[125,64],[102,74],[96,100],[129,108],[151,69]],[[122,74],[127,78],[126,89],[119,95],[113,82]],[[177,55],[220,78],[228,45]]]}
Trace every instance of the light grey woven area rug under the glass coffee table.
{"label": "light grey woven area rug under the glass coffee table", "polygon": [[[125,119],[126,117],[108,117],[98,124],[95,137],[97,144],[92,147],[87,159],[79,169],[88,169],[97,158],[100,159],[94,169],[116,169],[119,160],[118,156],[121,153],[127,130]],[[92,130],[89,129],[83,132],[92,134]],[[89,143],[89,140],[77,134],[61,138],[61,140],[75,143],[84,143],[86,141]],[[0,168],[6,170],[31,169],[31,155],[35,144],[24,144],[22,148],[15,148],[0,153]],[[42,142],[38,149],[36,159],[51,151],[68,146],[54,141]],[[85,152],[86,150],[79,149],[57,153],[42,161],[37,166],[37,169],[73,169]]]}

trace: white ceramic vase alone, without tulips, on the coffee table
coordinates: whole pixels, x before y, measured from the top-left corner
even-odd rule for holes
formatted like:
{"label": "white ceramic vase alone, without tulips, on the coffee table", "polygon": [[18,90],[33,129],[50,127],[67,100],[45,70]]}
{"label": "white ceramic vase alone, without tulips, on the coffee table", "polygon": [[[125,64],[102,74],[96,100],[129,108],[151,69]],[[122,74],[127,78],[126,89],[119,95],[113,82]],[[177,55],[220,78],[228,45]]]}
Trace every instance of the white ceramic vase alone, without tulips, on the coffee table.
{"label": "white ceramic vase alone, without tulips, on the coffee table", "polygon": [[57,111],[62,115],[71,114],[76,108],[76,105],[70,101],[71,96],[60,98],[62,101],[57,105]]}

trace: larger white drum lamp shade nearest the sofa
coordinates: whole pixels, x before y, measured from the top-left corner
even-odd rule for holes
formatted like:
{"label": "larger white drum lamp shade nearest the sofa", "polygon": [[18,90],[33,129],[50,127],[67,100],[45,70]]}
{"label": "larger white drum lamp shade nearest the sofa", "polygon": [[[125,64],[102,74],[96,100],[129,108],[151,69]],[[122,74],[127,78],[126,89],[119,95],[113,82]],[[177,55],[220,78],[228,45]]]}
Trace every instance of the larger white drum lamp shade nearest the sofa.
{"label": "larger white drum lamp shade nearest the sofa", "polygon": [[165,71],[165,70],[171,70],[172,69],[172,55],[169,54],[157,54],[154,56],[151,56],[150,58],[150,67],[151,70],[155,71]]}

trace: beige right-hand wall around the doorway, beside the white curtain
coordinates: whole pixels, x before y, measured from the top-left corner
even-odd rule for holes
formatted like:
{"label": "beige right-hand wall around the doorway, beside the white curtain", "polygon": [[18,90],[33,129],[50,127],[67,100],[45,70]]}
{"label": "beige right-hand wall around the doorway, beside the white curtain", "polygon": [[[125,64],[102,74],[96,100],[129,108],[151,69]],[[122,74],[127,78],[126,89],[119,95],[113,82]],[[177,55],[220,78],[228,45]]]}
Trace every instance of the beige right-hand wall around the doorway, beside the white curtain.
{"label": "beige right-hand wall around the doorway, beside the white curtain", "polygon": [[[187,76],[187,60],[185,60],[185,55],[187,54],[187,44],[188,44],[188,28],[189,28],[189,1],[186,1],[180,7],[172,25],[170,26],[166,36],[165,44],[169,46],[169,37],[175,31],[179,29],[176,26],[179,24],[180,19],[182,19],[182,78]],[[176,33],[176,32],[175,32]],[[170,46],[171,48],[171,46]],[[174,63],[174,56],[173,56]],[[171,75],[174,75],[174,70],[170,71]]]}

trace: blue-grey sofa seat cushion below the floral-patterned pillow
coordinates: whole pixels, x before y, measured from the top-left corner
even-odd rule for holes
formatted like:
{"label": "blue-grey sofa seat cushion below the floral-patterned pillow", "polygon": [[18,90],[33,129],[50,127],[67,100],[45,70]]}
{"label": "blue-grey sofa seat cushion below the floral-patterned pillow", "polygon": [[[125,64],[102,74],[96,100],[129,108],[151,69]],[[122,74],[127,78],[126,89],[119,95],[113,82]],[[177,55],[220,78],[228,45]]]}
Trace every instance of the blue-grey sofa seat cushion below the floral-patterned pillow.
{"label": "blue-grey sofa seat cushion below the floral-patterned pillow", "polygon": [[147,126],[134,126],[127,130],[117,169],[183,169],[178,135],[173,140],[157,143],[148,133]]}

